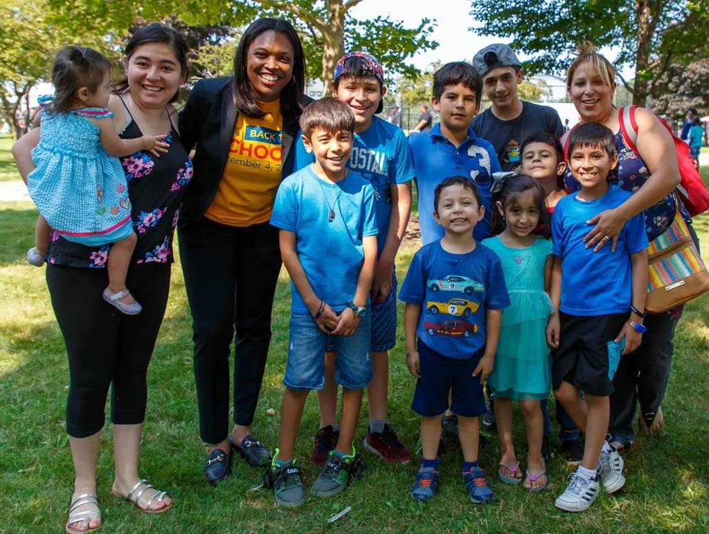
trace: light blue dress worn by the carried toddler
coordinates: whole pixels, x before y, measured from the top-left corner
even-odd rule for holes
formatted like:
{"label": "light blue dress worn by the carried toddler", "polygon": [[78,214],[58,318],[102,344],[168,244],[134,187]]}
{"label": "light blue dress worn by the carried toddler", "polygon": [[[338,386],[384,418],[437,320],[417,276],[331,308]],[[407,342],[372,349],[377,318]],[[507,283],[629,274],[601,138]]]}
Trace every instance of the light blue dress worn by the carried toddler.
{"label": "light blue dress worn by the carried toddler", "polygon": [[121,240],[133,231],[125,174],[117,157],[101,146],[99,128],[86,117],[110,118],[107,109],[69,113],[40,111],[37,168],[27,189],[38,210],[63,238],[83,245]]}

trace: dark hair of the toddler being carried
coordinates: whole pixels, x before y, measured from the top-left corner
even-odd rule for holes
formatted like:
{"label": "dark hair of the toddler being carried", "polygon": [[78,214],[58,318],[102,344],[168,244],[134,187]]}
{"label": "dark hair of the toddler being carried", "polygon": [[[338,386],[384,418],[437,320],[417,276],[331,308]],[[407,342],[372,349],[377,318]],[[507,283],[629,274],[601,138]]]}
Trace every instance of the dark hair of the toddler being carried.
{"label": "dark hair of the toddler being carried", "polygon": [[57,52],[52,65],[54,100],[48,111],[69,113],[77,91],[82,87],[95,93],[106,73],[113,72],[111,62],[101,52],[85,46],[65,46]]}

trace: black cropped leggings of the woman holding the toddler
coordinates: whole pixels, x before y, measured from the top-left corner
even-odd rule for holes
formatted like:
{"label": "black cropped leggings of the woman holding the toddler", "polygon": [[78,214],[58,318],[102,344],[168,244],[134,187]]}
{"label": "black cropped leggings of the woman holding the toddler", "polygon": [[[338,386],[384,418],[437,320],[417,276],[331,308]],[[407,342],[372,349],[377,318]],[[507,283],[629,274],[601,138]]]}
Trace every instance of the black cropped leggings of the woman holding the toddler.
{"label": "black cropped leggings of the woman holding the toddler", "polygon": [[147,365],[167,305],[170,265],[131,265],[126,285],[143,306],[127,316],[101,296],[106,269],[47,265],[47,286],[69,357],[67,433],[86,438],[105,422],[111,387],[111,421],[143,423]]}

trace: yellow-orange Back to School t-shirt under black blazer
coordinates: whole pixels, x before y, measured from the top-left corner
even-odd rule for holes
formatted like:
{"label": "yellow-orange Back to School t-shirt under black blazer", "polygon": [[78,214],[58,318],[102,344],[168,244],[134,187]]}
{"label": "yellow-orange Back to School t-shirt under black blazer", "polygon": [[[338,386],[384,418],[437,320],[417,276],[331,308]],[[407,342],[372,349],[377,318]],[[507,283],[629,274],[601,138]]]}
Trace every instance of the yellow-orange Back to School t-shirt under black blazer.
{"label": "yellow-orange Back to School t-shirt under black blazer", "polygon": [[283,117],[280,101],[259,102],[264,118],[239,113],[219,189],[204,216],[229,226],[271,218],[281,183]]}

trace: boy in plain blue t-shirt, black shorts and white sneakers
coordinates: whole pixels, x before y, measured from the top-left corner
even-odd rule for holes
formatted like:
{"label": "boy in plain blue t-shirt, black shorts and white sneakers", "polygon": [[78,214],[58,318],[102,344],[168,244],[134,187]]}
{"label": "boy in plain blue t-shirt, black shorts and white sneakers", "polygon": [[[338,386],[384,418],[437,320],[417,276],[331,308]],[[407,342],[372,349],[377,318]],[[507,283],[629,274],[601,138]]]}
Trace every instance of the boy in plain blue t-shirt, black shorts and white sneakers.
{"label": "boy in plain blue t-shirt, black shorts and white sneakers", "polygon": [[[568,153],[581,189],[561,199],[552,216],[550,294],[559,311],[549,319],[547,341],[555,349],[554,395],[586,435],[584,460],[554,504],[579,512],[596,500],[601,484],[608,493],[625,484],[623,458],[605,440],[608,396],[620,356],[635,350],[647,330],[642,325],[647,236],[641,212],[628,219],[618,235],[606,235],[595,248],[586,244],[588,221],[617,208],[631,194],[608,183],[618,152],[613,132],[602,124],[574,128]],[[614,247],[601,246],[609,240]]]}

